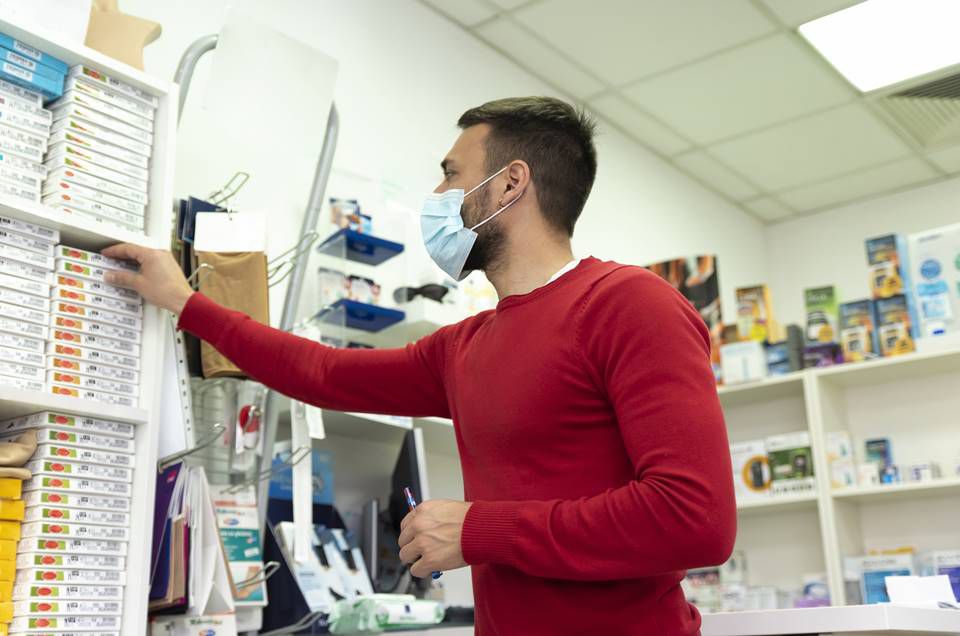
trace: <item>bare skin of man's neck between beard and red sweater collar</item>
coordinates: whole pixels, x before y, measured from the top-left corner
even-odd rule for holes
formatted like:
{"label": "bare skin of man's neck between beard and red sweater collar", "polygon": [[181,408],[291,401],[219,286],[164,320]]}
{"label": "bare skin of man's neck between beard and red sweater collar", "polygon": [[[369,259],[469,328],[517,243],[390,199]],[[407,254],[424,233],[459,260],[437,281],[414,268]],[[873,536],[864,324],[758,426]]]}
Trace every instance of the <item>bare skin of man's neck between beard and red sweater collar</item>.
{"label": "bare skin of man's neck between beard and red sweater collar", "polygon": [[501,300],[542,287],[551,276],[573,260],[569,240],[542,242],[523,249],[511,246],[505,252],[485,272]]}

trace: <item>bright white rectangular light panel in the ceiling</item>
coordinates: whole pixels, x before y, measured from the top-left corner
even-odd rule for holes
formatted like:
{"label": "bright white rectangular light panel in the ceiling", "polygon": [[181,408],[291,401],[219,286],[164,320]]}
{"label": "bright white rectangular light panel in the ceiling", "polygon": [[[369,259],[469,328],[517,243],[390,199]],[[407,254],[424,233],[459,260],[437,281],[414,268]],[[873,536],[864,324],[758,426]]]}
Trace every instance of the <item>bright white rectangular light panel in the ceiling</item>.
{"label": "bright white rectangular light panel in the ceiling", "polygon": [[865,0],[800,26],[861,92],[960,63],[960,0]]}

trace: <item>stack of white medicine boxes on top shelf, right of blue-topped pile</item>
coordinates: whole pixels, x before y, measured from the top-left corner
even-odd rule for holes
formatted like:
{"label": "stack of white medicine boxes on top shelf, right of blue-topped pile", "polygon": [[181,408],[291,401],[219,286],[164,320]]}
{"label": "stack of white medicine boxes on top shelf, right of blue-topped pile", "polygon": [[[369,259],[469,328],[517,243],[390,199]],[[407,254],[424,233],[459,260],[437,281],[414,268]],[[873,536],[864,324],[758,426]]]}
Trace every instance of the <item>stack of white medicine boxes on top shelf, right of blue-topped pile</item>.
{"label": "stack of white medicine boxes on top shelf, right of blue-topped pile", "polygon": [[43,203],[143,233],[157,98],[86,66],[51,104]]}

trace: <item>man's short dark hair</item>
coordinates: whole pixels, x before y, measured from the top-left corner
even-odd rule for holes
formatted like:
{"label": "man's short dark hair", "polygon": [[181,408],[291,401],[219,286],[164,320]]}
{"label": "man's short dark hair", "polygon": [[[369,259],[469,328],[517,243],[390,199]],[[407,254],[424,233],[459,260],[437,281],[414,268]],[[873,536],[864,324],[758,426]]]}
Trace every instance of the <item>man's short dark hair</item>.
{"label": "man's short dark hair", "polygon": [[593,118],[553,97],[511,97],[471,108],[457,121],[461,129],[478,124],[490,126],[487,170],[526,161],[547,221],[573,236],[597,175]]}

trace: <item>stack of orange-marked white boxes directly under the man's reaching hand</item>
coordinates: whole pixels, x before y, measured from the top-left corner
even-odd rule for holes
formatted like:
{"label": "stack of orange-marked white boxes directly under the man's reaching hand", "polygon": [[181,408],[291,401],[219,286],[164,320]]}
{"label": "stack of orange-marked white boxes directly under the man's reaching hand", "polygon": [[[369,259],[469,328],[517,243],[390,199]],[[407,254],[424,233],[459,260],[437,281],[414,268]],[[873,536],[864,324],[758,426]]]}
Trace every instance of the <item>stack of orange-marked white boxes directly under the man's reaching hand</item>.
{"label": "stack of orange-marked white boxes directly under the man's reaching hand", "polygon": [[133,266],[58,245],[50,306],[47,386],[52,393],[136,406],[140,394],[140,296],[106,283]]}

